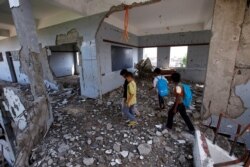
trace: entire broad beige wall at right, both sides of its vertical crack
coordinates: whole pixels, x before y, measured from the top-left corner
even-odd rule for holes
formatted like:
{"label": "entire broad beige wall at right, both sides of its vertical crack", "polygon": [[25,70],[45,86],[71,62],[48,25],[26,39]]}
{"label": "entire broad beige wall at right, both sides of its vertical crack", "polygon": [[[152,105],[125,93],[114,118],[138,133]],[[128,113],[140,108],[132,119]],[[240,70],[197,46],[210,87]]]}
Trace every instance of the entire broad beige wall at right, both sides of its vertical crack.
{"label": "entire broad beige wall at right, both sides of its vertical crack", "polygon": [[241,96],[249,91],[249,21],[246,0],[216,1],[203,98],[204,117],[226,112],[236,118],[248,111]]}

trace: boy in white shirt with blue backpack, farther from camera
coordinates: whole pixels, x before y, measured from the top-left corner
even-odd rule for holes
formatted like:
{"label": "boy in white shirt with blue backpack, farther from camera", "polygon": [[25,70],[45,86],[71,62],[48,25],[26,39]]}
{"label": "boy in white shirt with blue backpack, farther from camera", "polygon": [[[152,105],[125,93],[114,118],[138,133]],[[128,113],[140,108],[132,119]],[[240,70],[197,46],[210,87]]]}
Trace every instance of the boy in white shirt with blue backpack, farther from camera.
{"label": "boy in white shirt with blue backpack, farther from camera", "polygon": [[[158,100],[159,100],[159,105],[160,105],[160,110],[165,108],[164,104],[164,96],[167,96],[168,94],[168,80],[161,75],[161,69],[156,68],[154,70],[154,74],[156,75],[153,81],[153,88],[156,89],[157,94],[158,94]],[[159,85],[160,84],[160,85]]]}

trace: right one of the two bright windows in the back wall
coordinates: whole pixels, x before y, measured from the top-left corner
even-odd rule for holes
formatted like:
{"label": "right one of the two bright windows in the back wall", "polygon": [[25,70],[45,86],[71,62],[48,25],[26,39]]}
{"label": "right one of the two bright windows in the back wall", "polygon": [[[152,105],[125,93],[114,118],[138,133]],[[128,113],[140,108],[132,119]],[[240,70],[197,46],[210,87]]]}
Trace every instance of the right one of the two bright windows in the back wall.
{"label": "right one of the two bright windows in the back wall", "polygon": [[170,48],[169,67],[187,67],[188,46],[175,46]]}

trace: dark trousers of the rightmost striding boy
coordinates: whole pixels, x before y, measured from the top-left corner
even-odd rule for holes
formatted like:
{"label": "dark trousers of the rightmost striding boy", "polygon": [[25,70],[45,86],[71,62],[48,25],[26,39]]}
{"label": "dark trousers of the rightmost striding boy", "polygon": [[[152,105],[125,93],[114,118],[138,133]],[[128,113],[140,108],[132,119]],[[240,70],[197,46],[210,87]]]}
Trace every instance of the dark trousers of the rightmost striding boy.
{"label": "dark trousers of the rightmost striding boy", "polygon": [[[177,113],[174,113],[174,106],[175,104],[172,106],[172,108],[168,111],[168,122],[167,122],[167,128],[169,129],[172,129],[172,126],[173,126],[173,118],[175,116],[175,114]],[[194,131],[194,126],[192,124],[192,122],[190,121],[188,115],[187,115],[187,112],[186,112],[186,107],[184,106],[183,103],[179,104],[177,106],[177,111],[181,114],[181,117],[183,118],[183,120],[185,121],[186,125],[188,126],[188,129],[190,131]]]}

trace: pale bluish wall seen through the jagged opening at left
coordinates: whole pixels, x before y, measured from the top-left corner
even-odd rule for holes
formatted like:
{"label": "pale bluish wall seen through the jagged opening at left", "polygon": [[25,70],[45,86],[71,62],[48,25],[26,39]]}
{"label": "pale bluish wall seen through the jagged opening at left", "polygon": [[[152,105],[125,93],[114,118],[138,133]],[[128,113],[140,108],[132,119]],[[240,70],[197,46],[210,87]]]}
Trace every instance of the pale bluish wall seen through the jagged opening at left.
{"label": "pale bluish wall seen through the jagged opening at left", "polygon": [[74,75],[74,56],[74,52],[52,52],[49,56],[49,64],[56,77]]}

